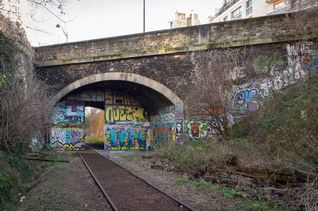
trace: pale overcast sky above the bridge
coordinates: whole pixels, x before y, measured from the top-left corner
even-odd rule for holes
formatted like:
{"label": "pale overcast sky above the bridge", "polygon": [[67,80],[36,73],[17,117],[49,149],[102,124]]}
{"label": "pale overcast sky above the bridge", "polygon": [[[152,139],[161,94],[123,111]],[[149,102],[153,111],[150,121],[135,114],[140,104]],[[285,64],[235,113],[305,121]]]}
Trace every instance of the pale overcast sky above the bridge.
{"label": "pale overcast sky above the bridge", "polygon": [[[20,6],[26,9],[27,4]],[[198,14],[201,24],[208,23],[208,17],[213,16],[215,8],[219,8],[223,0],[146,0],[146,31],[169,29],[168,21],[175,19],[175,12],[186,13],[188,17],[193,10]],[[54,9],[54,8],[53,8]],[[30,9],[28,9],[30,10]],[[55,10],[59,13],[59,10]],[[143,0],[73,0],[65,7],[68,42],[113,37],[143,32]],[[61,28],[56,24],[64,24],[47,11],[38,9],[34,16],[38,21],[49,19],[43,23],[25,22],[34,28],[50,33],[35,32],[27,29],[27,35],[32,45],[47,45],[66,42]]]}

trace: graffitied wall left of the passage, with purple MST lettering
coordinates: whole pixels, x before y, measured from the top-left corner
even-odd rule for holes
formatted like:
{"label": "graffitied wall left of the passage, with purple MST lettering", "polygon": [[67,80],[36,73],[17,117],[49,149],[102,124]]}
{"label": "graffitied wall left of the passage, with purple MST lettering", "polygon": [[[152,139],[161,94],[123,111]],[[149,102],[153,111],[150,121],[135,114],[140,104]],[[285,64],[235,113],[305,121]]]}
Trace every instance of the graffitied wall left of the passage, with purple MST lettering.
{"label": "graffitied wall left of the passage, with purple MST lettering", "polygon": [[[51,134],[46,145],[51,149],[82,150],[85,147],[85,105],[74,101],[60,104],[51,120]],[[47,139],[47,138],[46,138]]]}

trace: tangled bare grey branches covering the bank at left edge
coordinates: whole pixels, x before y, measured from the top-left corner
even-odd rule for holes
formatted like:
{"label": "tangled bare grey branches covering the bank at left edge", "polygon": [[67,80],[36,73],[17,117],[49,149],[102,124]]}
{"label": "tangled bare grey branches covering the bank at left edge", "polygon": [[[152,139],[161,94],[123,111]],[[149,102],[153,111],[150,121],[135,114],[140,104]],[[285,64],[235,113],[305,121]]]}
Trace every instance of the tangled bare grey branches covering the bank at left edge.
{"label": "tangled bare grey branches covering the bank at left edge", "polygon": [[30,55],[0,32],[0,147],[24,151],[43,145],[53,111],[55,87],[39,80]]}

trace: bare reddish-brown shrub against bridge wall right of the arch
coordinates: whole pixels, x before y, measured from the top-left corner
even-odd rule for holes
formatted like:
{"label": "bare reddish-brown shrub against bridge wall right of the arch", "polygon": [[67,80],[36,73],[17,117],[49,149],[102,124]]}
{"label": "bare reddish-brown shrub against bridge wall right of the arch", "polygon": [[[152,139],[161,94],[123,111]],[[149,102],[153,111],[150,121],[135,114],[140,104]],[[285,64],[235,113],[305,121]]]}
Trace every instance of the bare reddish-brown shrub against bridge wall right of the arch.
{"label": "bare reddish-brown shrub against bridge wall right of the arch", "polygon": [[218,133],[229,133],[233,92],[247,75],[252,75],[249,74],[249,56],[246,47],[192,52],[194,79],[186,82],[186,118],[202,119]]}

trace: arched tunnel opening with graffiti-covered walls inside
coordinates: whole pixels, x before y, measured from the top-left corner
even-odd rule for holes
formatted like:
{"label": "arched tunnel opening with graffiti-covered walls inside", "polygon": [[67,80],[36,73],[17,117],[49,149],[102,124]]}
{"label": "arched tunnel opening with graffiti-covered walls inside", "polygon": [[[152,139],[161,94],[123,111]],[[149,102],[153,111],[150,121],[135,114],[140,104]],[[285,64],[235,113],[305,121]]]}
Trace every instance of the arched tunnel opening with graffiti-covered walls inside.
{"label": "arched tunnel opening with graffiti-covered walls inside", "polygon": [[[59,103],[61,105],[58,111],[59,118],[63,118],[61,116],[64,115],[64,119],[68,122],[63,121],[64,125],[61,127],[59,121],[56,121],[57,118],[52,119],[51,148],[76,150],[85,148],[85,140],[91,139],[91,134],[87,137],[86,131],[89,124],[99,124],[99,126],[101,124],[89,120],[86,109],[89,107],[103,110],[104,114],[102,136],[104,143],[100,141],[101,143],[96,145],[98,149],[147,149],[151,142],[154,145],[165,145],[175,140],[174,103],[162,93],[140,83],[125,80],[90,83],[67,93]],[[83,115],[76,112],[77,108],[82,109],[82,106],[85,110]],[[164,115],[160,116],[159,113]],[[151,122],[152,119],[156,121]],[[162,124],[157,124],[158,119]],[[155,127],[164,130],[154,135]],[[59,137],[56,138],[57,136]]]}

